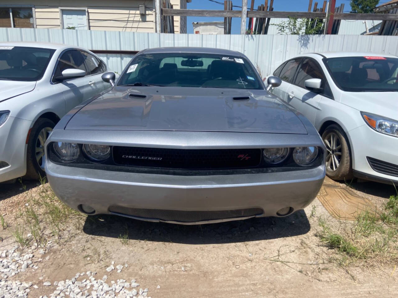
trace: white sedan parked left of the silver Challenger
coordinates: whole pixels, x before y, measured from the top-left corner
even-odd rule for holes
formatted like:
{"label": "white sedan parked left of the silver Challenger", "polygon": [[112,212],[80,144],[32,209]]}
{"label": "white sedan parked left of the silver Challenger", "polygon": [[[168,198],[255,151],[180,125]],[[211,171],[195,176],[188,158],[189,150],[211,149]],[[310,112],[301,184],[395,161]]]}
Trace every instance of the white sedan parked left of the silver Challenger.
{"label": "white sedan parked left of the silver Challenger", "polygon": [[44,176],[44,143],[69,110],[110,88],[92,52],[51,43],[0,43],[0,182]]}

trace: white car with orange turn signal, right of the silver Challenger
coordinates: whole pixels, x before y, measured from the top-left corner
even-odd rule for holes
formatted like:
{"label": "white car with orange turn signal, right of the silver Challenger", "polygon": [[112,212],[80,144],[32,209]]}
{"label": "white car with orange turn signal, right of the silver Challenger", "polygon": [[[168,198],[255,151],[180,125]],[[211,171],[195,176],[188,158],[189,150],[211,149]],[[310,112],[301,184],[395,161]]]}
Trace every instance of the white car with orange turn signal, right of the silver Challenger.
{"label": "white car with orange turn signal, right of the silver Challenger", "polygon": [[273,93],[314,124],[326,174],[398,184],[398,57],[327,52],[297,56],[273,75]]}

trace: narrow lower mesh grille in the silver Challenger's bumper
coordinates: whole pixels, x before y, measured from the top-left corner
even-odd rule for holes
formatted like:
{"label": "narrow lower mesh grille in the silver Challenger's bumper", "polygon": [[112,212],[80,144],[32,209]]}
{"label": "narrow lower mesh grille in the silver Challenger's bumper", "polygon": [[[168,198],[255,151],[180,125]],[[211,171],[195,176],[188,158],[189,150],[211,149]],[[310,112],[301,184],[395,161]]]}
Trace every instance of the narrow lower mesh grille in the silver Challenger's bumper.
{"label": "narrow lower mesh grille in the silver Challenger's bumper", "polygon": [[215,219],[248,217],[248,216],[263,214],[263,209],[261,208],[221,210],[221,211],[181,211],[181,210],[129,208],[118,205],[113,205],[109,207],[109,211],[113,213],[142,217],[146,219],[160,219],[162,221],[180,221],[183,223],[210,221]]}

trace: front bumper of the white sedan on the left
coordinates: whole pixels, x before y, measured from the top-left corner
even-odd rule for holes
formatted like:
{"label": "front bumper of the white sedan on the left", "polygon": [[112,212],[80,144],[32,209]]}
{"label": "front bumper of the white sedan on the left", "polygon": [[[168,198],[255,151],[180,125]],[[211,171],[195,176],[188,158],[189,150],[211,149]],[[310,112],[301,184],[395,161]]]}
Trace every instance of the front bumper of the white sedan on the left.
{"label": "front bumper of the white sedan on the left", "polygon": [[26,137],[31,121],[8,117],[0,127],[0,161],[8,164],[0,168],[0,182],[26,174]]}

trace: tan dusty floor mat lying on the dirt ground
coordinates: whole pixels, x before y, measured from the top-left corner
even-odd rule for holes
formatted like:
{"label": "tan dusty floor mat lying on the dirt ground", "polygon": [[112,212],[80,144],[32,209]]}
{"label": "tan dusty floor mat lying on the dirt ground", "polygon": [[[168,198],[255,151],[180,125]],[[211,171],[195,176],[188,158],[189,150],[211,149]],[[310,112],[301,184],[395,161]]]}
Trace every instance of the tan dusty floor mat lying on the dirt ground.
{"label": "tan dusty floor mat lying on the dirt ground", "polygon": [[318,199],[336,219],[354,221],[361,212],[377,213],[377,207],[372,201],[328,177],[324,180]]}

